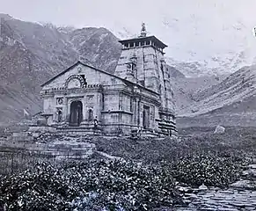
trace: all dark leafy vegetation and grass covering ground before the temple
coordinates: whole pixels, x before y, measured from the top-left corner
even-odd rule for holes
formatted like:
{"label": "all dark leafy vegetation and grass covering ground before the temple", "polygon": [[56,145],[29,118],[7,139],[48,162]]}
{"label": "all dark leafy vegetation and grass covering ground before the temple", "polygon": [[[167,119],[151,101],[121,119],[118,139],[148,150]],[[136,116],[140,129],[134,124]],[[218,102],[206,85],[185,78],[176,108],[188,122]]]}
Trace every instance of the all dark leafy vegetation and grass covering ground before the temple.
{"label": "all dark leafy vegetation and grass covering ground before the temple", "polygon": [[0,178],[0,206],[7,210],[161,210],[182,204],[177,186],[225,188],[238,180],[255,156],[255,128],[230,127],[224,135],[213,131],[186,128],[179,131],[178,140],[88,137],[99,151],[125,161],[106,161],[95,153],[83,162],[33,162],[26,171]]}

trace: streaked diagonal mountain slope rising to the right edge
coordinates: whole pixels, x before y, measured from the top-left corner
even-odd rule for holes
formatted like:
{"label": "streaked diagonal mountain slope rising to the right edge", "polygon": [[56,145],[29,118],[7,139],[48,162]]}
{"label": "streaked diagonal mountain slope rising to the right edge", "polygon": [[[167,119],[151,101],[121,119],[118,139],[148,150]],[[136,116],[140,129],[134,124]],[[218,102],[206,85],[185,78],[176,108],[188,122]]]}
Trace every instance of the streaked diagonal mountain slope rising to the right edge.
{"label": "streaked diagonal mountain slope rising to the right edge", "polygon": [[256,109],[256,65],[239,69],[223,82],[194,94],[195,103],[182,116],[204,113],[253,113]]}

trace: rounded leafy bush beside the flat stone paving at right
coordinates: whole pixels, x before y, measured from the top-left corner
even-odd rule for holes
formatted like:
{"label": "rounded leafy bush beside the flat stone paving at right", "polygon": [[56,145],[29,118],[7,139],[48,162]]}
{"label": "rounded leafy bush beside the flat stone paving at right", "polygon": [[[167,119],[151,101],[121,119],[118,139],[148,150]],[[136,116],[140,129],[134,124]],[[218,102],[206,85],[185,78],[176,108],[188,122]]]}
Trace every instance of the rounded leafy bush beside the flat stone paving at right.
{"label": "rounded leafy bush beside the flat stone paving at right", "polygon": [[191,186],[225,187],[237,181],[239,173],[235,158],[214,154],[185,156],[172,163],[172,176]]}

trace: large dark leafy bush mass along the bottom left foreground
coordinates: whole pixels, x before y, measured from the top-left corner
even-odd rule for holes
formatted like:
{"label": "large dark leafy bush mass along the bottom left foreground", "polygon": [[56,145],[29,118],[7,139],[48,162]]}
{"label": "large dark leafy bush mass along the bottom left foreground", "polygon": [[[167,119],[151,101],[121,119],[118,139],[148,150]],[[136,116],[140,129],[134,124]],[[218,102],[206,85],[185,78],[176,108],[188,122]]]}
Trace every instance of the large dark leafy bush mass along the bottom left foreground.
{"label": "large dark leafy bush mass along the bottom left foreground", "polygon": [[8,210],[148,210],[180,199],[170,171],[121,161],[38,164],[0,183]]}

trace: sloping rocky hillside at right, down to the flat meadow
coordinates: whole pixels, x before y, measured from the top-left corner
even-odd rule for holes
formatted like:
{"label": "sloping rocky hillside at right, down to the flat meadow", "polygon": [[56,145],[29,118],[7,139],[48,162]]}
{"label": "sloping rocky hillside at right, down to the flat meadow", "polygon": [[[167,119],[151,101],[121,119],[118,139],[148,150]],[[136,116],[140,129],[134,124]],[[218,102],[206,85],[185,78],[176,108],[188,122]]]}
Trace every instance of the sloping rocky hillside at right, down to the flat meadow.
{"label": "sloping rocky hillside at right, down to the flat meadow", "polygon": [[202,124],[256,126],[256,65],[239,69],[220,84],[195,92],[193,98],[190,106],[179,111],[183,123],[193,119],[191,124],[197,120]]}

